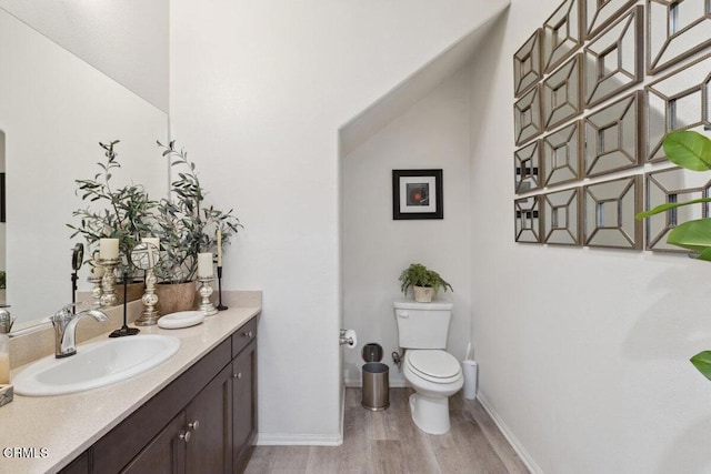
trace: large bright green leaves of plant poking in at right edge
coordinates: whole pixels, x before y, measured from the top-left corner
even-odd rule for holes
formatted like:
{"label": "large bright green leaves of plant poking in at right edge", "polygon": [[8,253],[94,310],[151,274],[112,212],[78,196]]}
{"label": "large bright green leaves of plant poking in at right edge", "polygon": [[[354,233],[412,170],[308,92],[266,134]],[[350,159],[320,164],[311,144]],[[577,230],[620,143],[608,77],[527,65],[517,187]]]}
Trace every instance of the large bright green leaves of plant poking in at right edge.
{"label": "large bright green leaves of plant poking in at right edge", "polygon": [[[671,132],[664,138],[664,154],[672,163],[691,171],[711,171],[711,140],[694,131]],[[687,202],[670,202],[637,214],[645,219],[683,205],[711,202],[701,198]],[[711,262],[711,218],[682,222],[669,232],[667,243],[694,252],[699,260]],[[711,380],[711,351],[702,351],[691,357],[691,363]]]}

